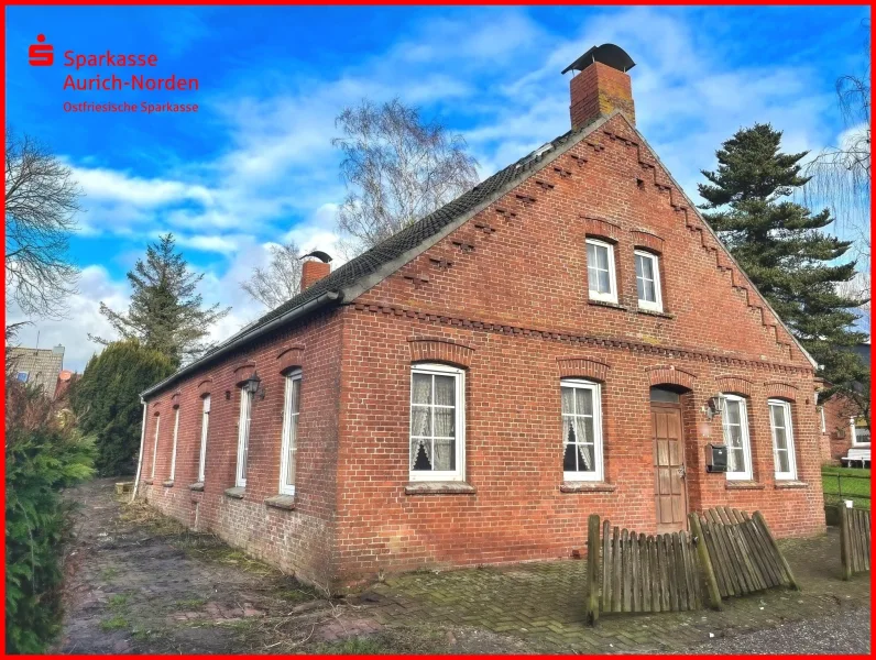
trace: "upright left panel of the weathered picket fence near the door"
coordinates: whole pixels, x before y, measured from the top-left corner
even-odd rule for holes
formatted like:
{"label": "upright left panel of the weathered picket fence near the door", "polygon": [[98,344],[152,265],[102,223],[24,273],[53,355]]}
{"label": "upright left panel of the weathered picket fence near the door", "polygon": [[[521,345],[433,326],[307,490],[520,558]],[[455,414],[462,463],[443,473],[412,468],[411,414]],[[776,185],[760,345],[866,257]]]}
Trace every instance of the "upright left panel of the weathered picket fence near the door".
{"label": "upright left panel of the weathered picket fence near the door", "polygon": [[609,520],[602,525],[600,543],[600,518],[590,516],[588,620],[595,623],[600,612],[699,609],[702,595],[696,552],[687,531],[644,535],[618,530]]}

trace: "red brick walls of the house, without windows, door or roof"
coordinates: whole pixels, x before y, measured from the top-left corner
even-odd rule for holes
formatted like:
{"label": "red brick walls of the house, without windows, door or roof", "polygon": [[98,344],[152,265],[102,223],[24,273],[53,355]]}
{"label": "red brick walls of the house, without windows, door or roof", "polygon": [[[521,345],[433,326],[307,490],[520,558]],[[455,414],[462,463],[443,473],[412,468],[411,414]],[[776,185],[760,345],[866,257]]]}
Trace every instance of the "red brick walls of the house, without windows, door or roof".
{"label": "red brick walls of the house, without windows, door or roof", "polygon": [[[617,72],[614,72],[617,73]],[[584,241],[614,244],[618,300],[588,295]],[[663,312],[638,309],[634,250],[659,254]],[[464,370],[464,484],[414,486],[412,365]],[[303,373],[294,509],[277,495],[284,370]],[[240,367],[243,367],[240,370]],[[239,370],[239,371],[236,371]],[[256,371],[245,493],[234,485],[241,374]],[[601,384],[604,480],[563,481],[560,378]],[[211,396],[204,492],[200,396]],[[812,365],[620,113],[353,300],[277,330],[149,400],[142,496],[322,585],[379,572],[570,557],[591,513],[653,531],[649,387],[681,392],[689,510],[763,512],[823,531]],[[180,422],[169,473],[172,395]],[[718,393],[747,399],[753,480],[705,472]],[[227,398],[230,397],[230,398]],[[767,399],[791,402],[797,479],[775,479]],[[166,419],[165,419],[166,418]],[[436,492],[437,491],[437,492]],[[196,513],[197,512],[197,513]]]}

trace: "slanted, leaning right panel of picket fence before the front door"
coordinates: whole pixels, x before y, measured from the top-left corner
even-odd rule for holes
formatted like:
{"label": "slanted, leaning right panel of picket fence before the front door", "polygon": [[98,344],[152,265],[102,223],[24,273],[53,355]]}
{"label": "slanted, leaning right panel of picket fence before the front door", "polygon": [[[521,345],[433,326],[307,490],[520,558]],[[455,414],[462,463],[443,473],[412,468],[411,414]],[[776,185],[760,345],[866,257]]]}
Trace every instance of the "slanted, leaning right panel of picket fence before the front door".
{"label": "slanted, leaning right panel of picket fence before the front door", "polygon": [[[691,516],[692,525],[696,517]],[[716,587],[721,597],[727,597],[774,586],[798,588],[760,512],[749,517],[738,509],[715,507],[703,512],[697,522],[700,529],[691,530],[708,551],[709,561],[703,568],[710,592]]]}

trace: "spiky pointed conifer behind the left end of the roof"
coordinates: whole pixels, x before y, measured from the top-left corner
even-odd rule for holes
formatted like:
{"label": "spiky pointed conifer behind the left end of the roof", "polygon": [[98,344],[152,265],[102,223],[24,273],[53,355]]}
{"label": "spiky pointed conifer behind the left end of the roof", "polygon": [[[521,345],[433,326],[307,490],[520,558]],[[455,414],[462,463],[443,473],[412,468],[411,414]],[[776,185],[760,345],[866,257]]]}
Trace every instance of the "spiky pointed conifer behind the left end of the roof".
{"label": "spiky pointed conifer behind the left end of the roof", "polygon": [[[100,304],[102,314],[122,339],[136,339],[173,360],[175,366],[197,358],[208,348],[204,339],[210,326],[221,320],[230,307],[217,302],[202,308],[196,293],[204,274],[193,273],[184,256],[176,251],[174,237],[167,233],[146,248],[146,260],[138,260],[128,280],[133,288],[127,314]],[[92,340],[108,344],[99,337]]]}

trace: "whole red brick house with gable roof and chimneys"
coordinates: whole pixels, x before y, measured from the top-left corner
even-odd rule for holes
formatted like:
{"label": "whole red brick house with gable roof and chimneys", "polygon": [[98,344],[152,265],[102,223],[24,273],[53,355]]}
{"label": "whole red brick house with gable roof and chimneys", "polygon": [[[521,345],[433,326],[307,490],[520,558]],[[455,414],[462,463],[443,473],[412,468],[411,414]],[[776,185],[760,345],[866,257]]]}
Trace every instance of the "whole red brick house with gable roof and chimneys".
{"label": "whole red brick house with gable roof and chimneys", "polygon": [[568,558],[591,513],[823,531],[813,362],[636,130],[632,66],[589,51],[568,133],[146,391],[139,496],[332,587]]}

